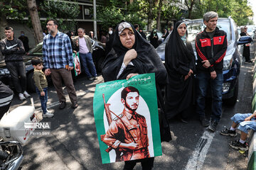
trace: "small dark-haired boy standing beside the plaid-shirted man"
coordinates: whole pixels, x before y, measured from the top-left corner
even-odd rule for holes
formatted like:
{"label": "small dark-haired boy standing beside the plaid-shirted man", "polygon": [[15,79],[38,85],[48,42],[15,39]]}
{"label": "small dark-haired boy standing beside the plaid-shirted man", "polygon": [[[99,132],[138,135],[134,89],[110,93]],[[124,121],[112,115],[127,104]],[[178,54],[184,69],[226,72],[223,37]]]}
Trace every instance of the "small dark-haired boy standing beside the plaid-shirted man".
{"label": "small dark-haired boy standing beside the plaid-shirted man", "polygon": [[38,57],[34,57],[31,60],[33,65],[34,72],[33,72],[33,80],[35,81],[36,85],[36,93],[39,95],[41,100],[41,107],[43,110],[43,118],[51,118],[53,117],[53,113],[50,113],[46,106],[47,106],[47,98],[48,98],[48,83],[46,79],[46,75],[42,72],[43,69],[43,61],[40,60]]}

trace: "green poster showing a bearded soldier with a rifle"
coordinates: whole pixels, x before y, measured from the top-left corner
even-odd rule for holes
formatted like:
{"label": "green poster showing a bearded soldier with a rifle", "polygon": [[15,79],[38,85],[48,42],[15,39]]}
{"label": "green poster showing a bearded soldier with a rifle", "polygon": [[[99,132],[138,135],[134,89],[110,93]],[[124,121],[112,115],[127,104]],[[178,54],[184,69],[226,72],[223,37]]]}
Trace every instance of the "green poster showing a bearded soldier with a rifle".
{"label": "green poster showing a bearded soldier with a rifle", "polygon": [[154,73],[97,84],[93,112],[102,164],[162,154]]}

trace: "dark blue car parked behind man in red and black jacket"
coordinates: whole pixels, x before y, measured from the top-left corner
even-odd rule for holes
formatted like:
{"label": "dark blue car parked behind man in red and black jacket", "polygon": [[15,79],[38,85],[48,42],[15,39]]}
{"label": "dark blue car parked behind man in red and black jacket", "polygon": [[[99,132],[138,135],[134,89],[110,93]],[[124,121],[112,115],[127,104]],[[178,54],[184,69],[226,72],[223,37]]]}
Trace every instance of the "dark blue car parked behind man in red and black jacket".
{"label": "dark blue car parked behind man in red and black jacket", "polygon": [[[196,55],[196,35],[203,31],[206,26],[203,24],[203,19],[190,20],[186,21],[186,23],[188,24],[188,40],[191,41],[194,54]],[[245,36],[242,40],[238,41],[238,30],[235,25],[235,21],[230,17],[218,18],[217,26],[220,30],[225,30],[228,39],[228,49],[223,59],[223,101],[230,105],[234,105],[238,99],[238,80],[242,60],[242,56],[238,50],[238,44],[245,44],[252,39],[249,36]],[[162,61],[165,60],[165,46],[169,37],[170,36],[168,36],[166,40],[156,48],[156,52],[159,54]]]}

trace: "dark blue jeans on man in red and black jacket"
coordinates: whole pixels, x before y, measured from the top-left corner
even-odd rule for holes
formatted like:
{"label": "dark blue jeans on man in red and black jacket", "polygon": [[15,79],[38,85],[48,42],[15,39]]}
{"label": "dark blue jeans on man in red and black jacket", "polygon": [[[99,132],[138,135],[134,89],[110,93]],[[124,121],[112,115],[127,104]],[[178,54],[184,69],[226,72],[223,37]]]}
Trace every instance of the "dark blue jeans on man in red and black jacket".
{"label": "dark blue jeans on man in red and black jacket", "polygon": [[196,113],[200,118],[206,116],[206,94],[207,87],[210,83],[210,89],[212,94],[212,114],[210,115],[211,120],[219,122],[222,112],[222,89],[223,89],[223,74],[217,74],[215,79],[210,79],[210,73],[199,72],[198,76],[198,95],[196,98]]}

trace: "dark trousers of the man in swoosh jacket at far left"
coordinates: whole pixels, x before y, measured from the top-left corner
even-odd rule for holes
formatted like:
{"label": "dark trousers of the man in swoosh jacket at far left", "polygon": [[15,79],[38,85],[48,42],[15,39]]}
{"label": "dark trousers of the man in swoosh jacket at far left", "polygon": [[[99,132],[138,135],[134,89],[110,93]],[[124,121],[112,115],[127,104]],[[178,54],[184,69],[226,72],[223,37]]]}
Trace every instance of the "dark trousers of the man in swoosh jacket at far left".
{"label": "dark trousers of the man in swoosh jacket at far left", "polygon": [[[18,94],[26,91],[25,64],[21,62],[6,62],[6,67],[11,74],[11,81]],[[20,77],[20,78],[19,78]]]}

